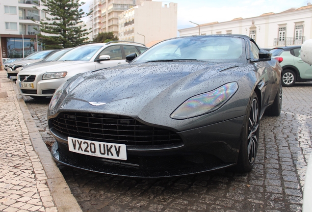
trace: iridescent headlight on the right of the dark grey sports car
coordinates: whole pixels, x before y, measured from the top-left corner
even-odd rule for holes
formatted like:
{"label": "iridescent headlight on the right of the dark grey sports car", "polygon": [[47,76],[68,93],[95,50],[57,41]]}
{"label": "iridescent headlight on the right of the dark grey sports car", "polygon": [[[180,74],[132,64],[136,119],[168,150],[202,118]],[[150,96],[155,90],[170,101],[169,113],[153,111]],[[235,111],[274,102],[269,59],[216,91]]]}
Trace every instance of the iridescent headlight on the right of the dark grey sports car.
{"label": "iridescent headlight on the right of the dark grey sports car", "polygon": [[230,82],[207,93],[193,96],[179,106],[170,117],[187,119],[213,112],[223,106],[237,91],[238,84]]}

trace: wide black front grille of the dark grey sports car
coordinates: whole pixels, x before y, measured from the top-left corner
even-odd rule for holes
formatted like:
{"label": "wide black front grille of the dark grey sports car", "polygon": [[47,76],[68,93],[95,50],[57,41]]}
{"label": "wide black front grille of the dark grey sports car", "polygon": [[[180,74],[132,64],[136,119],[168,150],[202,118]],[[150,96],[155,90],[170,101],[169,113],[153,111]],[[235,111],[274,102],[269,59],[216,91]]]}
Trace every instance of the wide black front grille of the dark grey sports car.
{"label": "wide black front grille of the dark grey sports car", "polygon": [[126,116],[63,112],[51,123],[54,130],[64,136],[86,140],[131,146],[182,144],[176,132],[148,126]]}

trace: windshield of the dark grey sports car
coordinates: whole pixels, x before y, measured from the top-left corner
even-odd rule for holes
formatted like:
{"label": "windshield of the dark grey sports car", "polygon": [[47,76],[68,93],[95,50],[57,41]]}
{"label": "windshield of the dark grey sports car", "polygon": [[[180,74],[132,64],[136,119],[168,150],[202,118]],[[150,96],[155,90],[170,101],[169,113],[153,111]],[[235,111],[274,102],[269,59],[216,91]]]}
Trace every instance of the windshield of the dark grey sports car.
{"label": "windshield of the dark grey sports car", "polygon": [[194,36],[167,40],[150,48],[133,62],[152,61],[239,61],[246,59],[244,40],[225,36]]}

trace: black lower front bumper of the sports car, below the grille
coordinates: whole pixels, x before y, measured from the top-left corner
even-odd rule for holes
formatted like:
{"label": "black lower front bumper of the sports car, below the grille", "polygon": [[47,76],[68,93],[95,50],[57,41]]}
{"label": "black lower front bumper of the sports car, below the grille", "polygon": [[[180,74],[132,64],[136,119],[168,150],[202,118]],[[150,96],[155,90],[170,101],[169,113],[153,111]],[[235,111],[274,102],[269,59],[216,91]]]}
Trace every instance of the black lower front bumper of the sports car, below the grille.
{"label": "black lower front bumper of the sports car, below the grille", "polygon": [[244,118],[178,132],[183,141],[180,146],[163,145],[154,149],[127,146],[127,160],[70,152],[66,138],[50,129],[57,140],[52,156],[71,167],[118,176],[160,178],[197,174],[236,164]]}

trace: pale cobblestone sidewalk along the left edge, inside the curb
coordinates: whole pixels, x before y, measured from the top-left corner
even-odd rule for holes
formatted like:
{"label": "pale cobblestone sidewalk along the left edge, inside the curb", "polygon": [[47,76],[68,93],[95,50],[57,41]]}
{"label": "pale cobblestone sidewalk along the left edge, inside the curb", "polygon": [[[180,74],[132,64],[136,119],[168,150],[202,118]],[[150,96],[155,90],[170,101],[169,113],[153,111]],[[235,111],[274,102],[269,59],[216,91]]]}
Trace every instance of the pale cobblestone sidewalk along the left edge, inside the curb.
{"label": "pale cobblestone sidewalk along the left edge, inside the curb", "polygon": [[1,80],[8,97],[0,98],[0,211],[56,212],[13,85]]}

